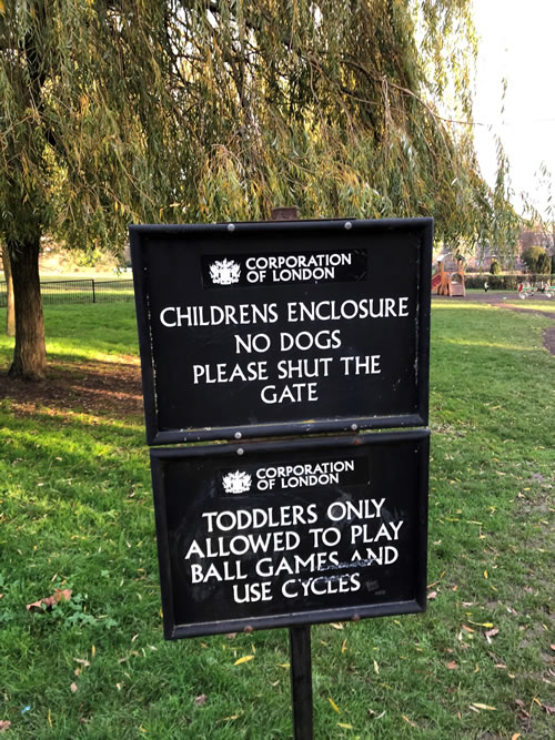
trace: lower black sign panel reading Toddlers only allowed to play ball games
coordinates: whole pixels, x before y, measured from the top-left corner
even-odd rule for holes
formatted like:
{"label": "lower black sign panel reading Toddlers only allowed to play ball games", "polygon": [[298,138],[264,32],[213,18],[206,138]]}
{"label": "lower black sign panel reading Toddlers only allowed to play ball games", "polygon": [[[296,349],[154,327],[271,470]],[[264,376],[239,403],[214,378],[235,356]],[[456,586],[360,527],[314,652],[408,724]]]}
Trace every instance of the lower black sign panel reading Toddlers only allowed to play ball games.
{"label": "lower black sign panel reading Toddlers only allowed to play ball games", "polygon": [[151,464],[167,639],[425,609],[427,430]]}

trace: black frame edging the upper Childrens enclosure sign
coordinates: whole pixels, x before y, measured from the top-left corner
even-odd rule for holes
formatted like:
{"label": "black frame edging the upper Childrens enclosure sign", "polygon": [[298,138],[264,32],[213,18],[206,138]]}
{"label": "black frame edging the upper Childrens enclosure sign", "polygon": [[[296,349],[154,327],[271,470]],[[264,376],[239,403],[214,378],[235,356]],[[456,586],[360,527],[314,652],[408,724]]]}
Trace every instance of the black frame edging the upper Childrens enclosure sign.
{"label": "black frame edging the upper Childrens enclosure sign", "polygon": [[[133,280],[135,290],[137,315],[139,324],[139,345],[141,353],[142,384],[144,396],[144,409],[147,422],[147,440],[149,445],[164,445],[183,442],[210,442],[210,440],[233,440],[245,437],[275,437],[301,434],[317,433],[337,433],[354,432],[360,429],[393,428],[393,427],[414,427],[426,426],[428,418],[428,356],[430,356],[430,282],[432,263],[432,219],[391,219],[379,221],[292,221],[292,222],[262,222],[262,223],[236,223],[236,224],[212,224],[212,225],[133,225],[130,226],[131,254],[133,262]],[[149,284],[149,272],[151,266],[144,256],[145,244],[152,240],[179,240],[180,249],[186,250],[188,244],[194,242],[195,249],[204,253],[233,254],[242,250],[241,239],[249,237],[258,240],[260,243],[259,253],[264,255],[269,249],[268,243],[273,245],[276,251],[287,250],[287,243],[292,239],[299,240],[327,240],[322,250],[330,251],[332,245],[341,244],[342,249],[349,249],[353,237],[361,240],[367,237],[369,242],[373,239],[398,240],[406,235],[417,242],[417,255],[415,257],[416,267],[416,290],[415,290],[415,316],[414,330],[411,335],[411,342],[414,343],[415,353],[411,354],[410,366],[414,366],[415,407],[406,413],[391,413],[390,409],[382,409],[379,414],[372,413],[371,394],[365,394],[361,399],[360,414],[351,409],[346,415],[334,413],[322,415],[317,410],[317,403],[312,405],[309,414],[294,420],[280,420],[269,423],[249,423],[248,419],[230,423],[222,426],[210,424],[188,424],[186,418],[180,417],[180,423],[163,426],[160,423],[161,392],[171,395],[171,389],[157,386],[157,374],[160,366],[157,366],[157,352],[153,349],[153,328],[151,316],[151,303],[154,288]],[[331,240],[331,242],[330,242]],[[335,240],[335,241],[334,241]],[[314,242],[315,243],[315,242]],[[361,243],[359,241],[359,243]],[[335,247],[336,249],[336,247]],[[369,253],[372,246],[369,246]],[[391,251],[392,266],[391,271],[403,270],[403,265],[395,265],[395,250]],[[412,270],[412,267],[411,267]],[[406,272],[406,271],[405,271]],[[181,276],[183,281],[194,280],[195,290],[199,290],[201,275],[193,278],[191,275]],[[172,267],[169,267],[168,280],[174,280]],[[354,280],[354,278],[352,278]],[[391,274],[389,272],[389,280]],[[325,281],[324,281],[325,282]],[[346,283],[345,283],[346,284]],[[354,284],[354,283],[353,283]],[[157,286],[157,290],[159,286]],[[255,286],[248,287],[254,291]],[[273,290],[273,288],[272,288]],[[322,286],[319,288],[323,291]],[[163,286],[162,286],[163,291]],[[160,290],[158,290],[160,292]],[[186,291],[184,291],[186,293]],[[212,296],[216,291],[212,293]],[[220,293],[220,295],[222,295]],[[363,327],[361,327],[362,331]],[[397,353],[403,352],[403,347],[397,347]],[[405,363],[408,366],[408,363]],[[349,379],[345,379],[349,384]],[[228,398],[233,396],[234,387],[226,388]],[[342,392],[349,393],[349,388]],[[367,403],[367,408],[364,404]],[[188,404],[183,403],[186,416]],[[307,405],[306,405],[307,406]],[[359,405],[356,406],[356,412]],[[265,410],[265,409],[264,409]],[[181,413],[181,412],[180,412]],[[270,415],[271,417],[271,415]],[[270,418],[269,417],[269,418]]]}

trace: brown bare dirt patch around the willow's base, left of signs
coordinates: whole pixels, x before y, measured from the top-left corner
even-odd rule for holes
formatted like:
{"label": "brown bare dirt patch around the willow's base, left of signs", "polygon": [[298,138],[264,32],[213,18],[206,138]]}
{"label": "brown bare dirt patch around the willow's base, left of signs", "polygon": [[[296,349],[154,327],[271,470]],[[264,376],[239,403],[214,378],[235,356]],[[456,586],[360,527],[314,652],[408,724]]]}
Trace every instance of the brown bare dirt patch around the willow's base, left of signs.
{"label": "brown bare dirt patch around the willow's base, left of signs", "polygon": [[137,357],[122,355],[113,362],[53,365],[41,383],[11,381],[3,373],[0,398],[10,398],[22,414],[48,407],[125,418],[143,412],[141,369]]}

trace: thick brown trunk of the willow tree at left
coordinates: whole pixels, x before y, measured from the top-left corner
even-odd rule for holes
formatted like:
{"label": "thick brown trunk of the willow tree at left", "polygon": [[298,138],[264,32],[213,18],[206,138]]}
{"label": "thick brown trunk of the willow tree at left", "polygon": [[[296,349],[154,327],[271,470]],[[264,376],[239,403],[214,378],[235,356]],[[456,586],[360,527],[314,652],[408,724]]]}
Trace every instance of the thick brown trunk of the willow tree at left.
{"label": "thick brown trunk of the willow tree at left", "polygon": [[44,320],[39,278],[40,235],[8,244],[16,298],[16,348],[9,376],[42,381],[47,374]]}

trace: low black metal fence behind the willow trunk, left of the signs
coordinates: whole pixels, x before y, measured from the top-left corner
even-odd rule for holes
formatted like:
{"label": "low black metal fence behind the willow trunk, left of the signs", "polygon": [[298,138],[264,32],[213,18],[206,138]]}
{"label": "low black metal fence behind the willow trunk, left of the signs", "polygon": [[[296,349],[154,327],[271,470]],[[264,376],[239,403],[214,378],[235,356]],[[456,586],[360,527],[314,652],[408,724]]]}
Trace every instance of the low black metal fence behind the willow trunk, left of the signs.
{"label": "low black metal fence behind the willow trunk, left of the signs", "polygon": [[[133,300],[132,280],[54,280],[41,282],[44,305],[62,303],[114,303]],[[0,307],[8,301],[6,282],[0,282]]]}

